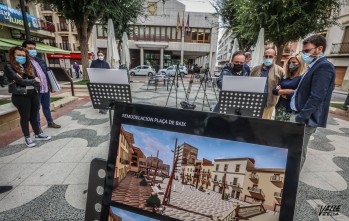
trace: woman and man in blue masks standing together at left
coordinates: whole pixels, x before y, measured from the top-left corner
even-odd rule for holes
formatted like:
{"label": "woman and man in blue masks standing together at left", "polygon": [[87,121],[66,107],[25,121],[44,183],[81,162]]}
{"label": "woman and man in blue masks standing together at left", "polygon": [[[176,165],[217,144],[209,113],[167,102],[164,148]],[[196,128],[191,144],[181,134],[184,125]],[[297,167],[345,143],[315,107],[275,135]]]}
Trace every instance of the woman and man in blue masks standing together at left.
{"label": "woman and man in blue masks standing together at left", "polygon": [[4,72],[9,92],[12,93],[12,103],[20,115],[20,125],[28,147],[36,145],[30,136],[29,124],[34,131],[35,141],[51,139],[41,129],[40,106],[47,120],[47,126],[61,127],[53,122],[50,111],[51,84],[47,71],[45,61],[37,57],[35,42],[24,41],[22,47],[16,46],[10,49],[9,63],[6,64]]}

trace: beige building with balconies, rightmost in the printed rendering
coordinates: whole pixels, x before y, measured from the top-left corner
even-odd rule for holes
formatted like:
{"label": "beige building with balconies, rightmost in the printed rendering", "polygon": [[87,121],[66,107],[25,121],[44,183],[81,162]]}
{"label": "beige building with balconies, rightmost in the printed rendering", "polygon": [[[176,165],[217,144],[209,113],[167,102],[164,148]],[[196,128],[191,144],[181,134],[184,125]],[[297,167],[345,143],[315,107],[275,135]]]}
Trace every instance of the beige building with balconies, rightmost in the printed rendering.
{"label": "beige building with balconies, rightmost in the printed rendering", "polygon": [[240,199],[279,212],[284,176],[284,168],[247,168]]}

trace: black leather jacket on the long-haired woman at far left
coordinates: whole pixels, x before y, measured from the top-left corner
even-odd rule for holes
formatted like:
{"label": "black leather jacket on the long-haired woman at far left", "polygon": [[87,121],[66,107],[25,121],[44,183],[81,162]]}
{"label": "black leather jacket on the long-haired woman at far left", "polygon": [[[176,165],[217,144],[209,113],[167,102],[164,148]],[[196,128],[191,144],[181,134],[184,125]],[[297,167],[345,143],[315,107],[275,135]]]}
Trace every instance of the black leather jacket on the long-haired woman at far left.
{"label": "black leather jacket on the long-haired woman at far left", "polygon": [[4,72],[8,78],[9,84],[14,81],[21,86],[33,86],[36,91],[39,91],[40,83],[35,81],[35,76],[27,75],[25,70],[23,76],[20,77],[12,65],[8,63],[5,65]]}

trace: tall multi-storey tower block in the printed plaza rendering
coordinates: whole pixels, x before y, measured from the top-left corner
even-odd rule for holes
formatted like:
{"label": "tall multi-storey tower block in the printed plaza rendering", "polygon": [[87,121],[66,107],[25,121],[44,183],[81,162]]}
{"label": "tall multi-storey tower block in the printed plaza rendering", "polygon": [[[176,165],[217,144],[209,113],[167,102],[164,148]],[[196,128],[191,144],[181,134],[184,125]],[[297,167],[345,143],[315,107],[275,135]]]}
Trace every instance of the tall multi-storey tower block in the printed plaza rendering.
{"label": "tall multi-storey tower block in the printed plaza rendering", "polygon": [[183,143],[176,148],[174,159],[176,159],[177,155],[178,161],[175,168],[175,178],[178,180],[181,176],[182,167],[188,168],[188,166],[194,166],[195,160],[198,157],[198,148]]}

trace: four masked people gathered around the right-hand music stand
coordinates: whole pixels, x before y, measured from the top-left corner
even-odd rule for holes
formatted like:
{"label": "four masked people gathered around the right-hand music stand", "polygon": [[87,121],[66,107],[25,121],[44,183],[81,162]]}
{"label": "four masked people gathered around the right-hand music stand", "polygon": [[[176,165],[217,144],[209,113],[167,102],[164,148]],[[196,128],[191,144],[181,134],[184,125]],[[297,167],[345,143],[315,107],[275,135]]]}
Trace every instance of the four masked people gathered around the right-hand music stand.
{"label": "four masked people gathered around the right-hand music stand", "polygon": [[282,68],[275,64],[276,51],[266,49],[263,64],[253,67],[251,73],[244,68],[246,55],[237,51],[217,81],[221,88],[224,75],[266,77],[267,102],[262,118],[272,119],[275,110],[275,120],[305,124],[302,165],[310,136],[317,127],[326,127],[335,86],[335,68],[324,56],[325,50],[323,36],[310,36],[303,41],[302,51],[291,56]]}

